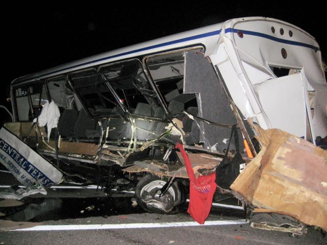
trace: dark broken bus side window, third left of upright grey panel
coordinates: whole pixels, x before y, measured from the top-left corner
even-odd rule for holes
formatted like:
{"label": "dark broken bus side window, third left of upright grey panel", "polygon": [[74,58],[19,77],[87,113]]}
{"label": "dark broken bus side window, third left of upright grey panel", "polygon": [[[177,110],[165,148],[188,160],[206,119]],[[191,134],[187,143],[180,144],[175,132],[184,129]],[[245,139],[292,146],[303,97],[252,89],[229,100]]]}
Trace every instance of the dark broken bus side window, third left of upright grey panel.
{"label": "dark broken bus side window, third left of upright grey panel", "polygon": [[96,69],[74,72],[69,79],[91,115],[110,114],[119,106]]}

